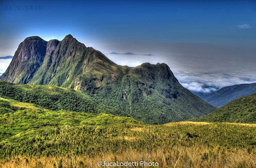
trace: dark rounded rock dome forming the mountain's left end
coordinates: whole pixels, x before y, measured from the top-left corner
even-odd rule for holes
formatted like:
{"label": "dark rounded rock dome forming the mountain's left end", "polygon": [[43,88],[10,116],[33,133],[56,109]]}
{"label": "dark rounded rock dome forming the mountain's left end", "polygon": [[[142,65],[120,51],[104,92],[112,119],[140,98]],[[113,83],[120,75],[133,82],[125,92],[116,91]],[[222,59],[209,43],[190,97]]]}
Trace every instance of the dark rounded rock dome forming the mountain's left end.
{"label": "dark rounded rock dome forming the mountain's left end", "polygon": [[42,65],[46,55],[47,42],[38,36],[27,37],[14,54],[10,66],[0,80],[14,83],[28,83]]}

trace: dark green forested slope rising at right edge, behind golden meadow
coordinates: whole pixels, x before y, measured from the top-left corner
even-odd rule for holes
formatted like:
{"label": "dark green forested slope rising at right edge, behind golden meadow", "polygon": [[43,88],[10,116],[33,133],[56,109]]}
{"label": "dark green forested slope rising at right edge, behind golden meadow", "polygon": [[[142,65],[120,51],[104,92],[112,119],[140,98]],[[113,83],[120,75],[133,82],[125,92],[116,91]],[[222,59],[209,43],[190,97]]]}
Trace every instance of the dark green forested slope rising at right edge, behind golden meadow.
{"label": "dark green forested slope rising at right edge, behind golden meadow", "polygon": [[255,124],[255,105],[256,93],[235,99],[206,116],[191,119],[190,121]]}

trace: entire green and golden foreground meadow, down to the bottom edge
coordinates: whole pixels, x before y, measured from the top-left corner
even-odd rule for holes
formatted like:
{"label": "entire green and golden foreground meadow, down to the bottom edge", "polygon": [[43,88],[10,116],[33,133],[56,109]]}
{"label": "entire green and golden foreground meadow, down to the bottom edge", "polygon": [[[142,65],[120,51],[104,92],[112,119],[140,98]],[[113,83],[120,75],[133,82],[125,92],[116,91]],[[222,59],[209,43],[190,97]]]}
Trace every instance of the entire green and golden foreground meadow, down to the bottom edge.
{"label": "entire green and golden foreground meadow, down to the bottom edge", "polygon": [[[133,166],[98,166],[137,162]],[[140,161],[157,166],[140,165]],[[173,122],[43,109],[0,98],[0,168],[255,168],[256,124]]]}

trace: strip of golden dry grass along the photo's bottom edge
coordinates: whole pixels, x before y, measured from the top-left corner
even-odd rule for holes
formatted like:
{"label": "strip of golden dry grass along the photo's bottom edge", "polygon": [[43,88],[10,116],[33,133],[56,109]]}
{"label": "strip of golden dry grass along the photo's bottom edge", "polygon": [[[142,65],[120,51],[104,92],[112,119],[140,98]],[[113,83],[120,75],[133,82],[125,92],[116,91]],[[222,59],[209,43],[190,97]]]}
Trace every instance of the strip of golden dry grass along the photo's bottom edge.
{"label": "strip of golden dry grass along the photo's bottom edge", "polygon": [[[97,162],[137,162],[138,166],[148,168],[149,166],[140,166],[140,161],[157,162],[157,168],[255,168],[256,153],[249,153],[247,150],[228,150],[219,147],[209,148],[204,146],[182,147],[176,146],[173,150],[156,149],[152,151],[137,151],[136,149],[121,149],[116,154],[113,153],[95,153],[94,157],[86,155],[76,156],[72,153],[67,157],[39,157],[29,158],[16,156],[7,161],[1,161],[0,168],[97,168]],[[111,166],[101,166],[111,167]],[[121,166],[120,166],[121,167]],[[129,166],[123,166],[129,167]],[[132,167],[132,166],[130,166]],[[135,166],[134,166],[135,167]]]}

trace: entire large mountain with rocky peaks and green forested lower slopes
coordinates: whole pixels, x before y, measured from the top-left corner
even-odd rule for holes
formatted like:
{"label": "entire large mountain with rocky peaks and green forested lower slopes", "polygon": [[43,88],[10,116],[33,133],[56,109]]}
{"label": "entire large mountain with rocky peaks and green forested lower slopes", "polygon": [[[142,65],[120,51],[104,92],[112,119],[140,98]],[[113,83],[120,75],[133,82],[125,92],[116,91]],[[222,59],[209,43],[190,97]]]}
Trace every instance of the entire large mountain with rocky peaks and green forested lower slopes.
{"label": "entire large mountain with rocky peaks and green forested lower slopes", "polygon": [[216,109],[181,86],[167,64],[120,66],[70,34],[62,41],[26,38],[0,80],[80,90],[149,124],[201,117]]}

